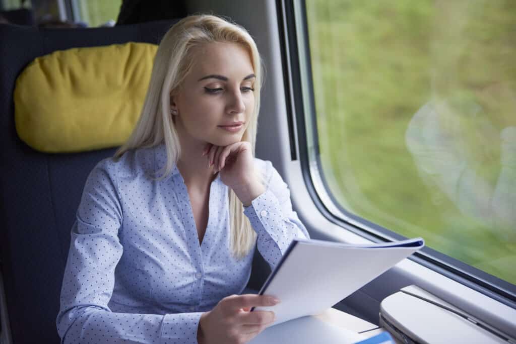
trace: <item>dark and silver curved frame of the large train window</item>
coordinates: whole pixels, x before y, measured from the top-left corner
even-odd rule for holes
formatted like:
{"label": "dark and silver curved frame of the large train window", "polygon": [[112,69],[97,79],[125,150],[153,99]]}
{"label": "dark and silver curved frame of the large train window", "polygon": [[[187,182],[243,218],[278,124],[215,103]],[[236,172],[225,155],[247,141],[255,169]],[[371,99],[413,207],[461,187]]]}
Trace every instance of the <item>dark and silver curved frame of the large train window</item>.
{"label": "dark and silver curved frame of the large train window", "polygon": [[[303,181],[316,208],[335,225],[371,242],[405,239],[405,236],[346,211],[329,192],[329,184],[322,172],[319,158],[305,0],[278,0],[277,10],[282,60],[287,67],[284,68],[285,99],[287,103],[291,102],[287,104],[287,113],[292,118],[289,123],[294,124],[289,128],[289,132],[291,137],[297,138],[294,148],[298,151]],[[516,285],[429,247],[414,253],[409,259],[511,308],[516,308]]]}

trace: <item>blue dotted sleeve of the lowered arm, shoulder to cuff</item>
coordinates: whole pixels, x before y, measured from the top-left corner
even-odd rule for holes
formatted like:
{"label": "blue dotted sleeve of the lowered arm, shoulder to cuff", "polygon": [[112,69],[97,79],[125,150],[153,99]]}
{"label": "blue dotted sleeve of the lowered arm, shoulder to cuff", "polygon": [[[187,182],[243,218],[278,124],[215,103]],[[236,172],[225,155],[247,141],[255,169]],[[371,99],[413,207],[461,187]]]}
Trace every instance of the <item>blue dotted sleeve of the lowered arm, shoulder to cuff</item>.
{"label": "blue dotted sleeve of the lowered arm, shoulder to cuff", "polygon": [[101,164],[89,175],[71,231],[57,330],[61,343],[197,343],[202,313],[114,313],[108,307],[122,210],[116,183]]}

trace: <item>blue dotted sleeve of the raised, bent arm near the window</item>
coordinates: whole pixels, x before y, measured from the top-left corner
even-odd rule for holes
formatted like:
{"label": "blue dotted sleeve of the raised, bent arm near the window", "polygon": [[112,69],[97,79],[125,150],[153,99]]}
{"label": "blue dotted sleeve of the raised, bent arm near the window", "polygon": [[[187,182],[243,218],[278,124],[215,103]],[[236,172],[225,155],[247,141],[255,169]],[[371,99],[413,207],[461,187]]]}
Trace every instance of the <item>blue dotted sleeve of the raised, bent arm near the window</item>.
{"label": "blue dotted sleeve of the raised, bent arm near the window", "polygon": [[258,250],[273,269],[293,239],[310,236],[292,209],[287,184],[270,161],[266,164],[270,176],[266,191],[244,207],[244,214],[257,233]]}

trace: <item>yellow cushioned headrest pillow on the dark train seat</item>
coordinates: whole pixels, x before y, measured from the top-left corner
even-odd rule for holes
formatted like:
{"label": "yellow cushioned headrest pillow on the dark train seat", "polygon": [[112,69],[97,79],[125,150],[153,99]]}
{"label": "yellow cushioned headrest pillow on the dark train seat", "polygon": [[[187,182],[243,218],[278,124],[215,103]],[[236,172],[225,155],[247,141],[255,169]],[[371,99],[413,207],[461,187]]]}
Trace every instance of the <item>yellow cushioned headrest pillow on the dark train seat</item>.
{"label": "yellow cushioned headrest pillow on the dark train seat", "polygon": [[121,145],[140,116],[156,50],[154,44],[126,43],[35,59],[14,89],[18,135],[44,152]]}

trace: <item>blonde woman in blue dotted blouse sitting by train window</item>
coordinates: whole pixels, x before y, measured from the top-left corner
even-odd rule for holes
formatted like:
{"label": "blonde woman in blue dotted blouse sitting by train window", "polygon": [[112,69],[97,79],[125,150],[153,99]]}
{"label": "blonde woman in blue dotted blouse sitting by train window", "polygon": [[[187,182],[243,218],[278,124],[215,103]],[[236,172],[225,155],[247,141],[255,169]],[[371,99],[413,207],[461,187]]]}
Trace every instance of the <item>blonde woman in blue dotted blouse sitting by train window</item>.
{"label": "blonde woman in blue dotted blouse sitting by train window", "polygon": [[253,157],[260,57],[245,29],[189,16],[159,45],[140,120],[87,179],[61,290],[63,342],[247,342],[274,320],[237,295],[308,233]]}

